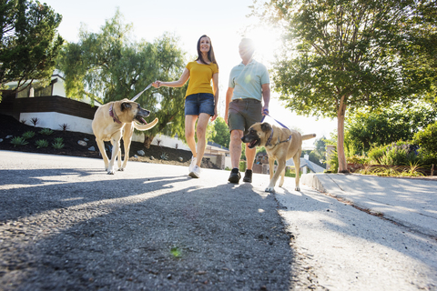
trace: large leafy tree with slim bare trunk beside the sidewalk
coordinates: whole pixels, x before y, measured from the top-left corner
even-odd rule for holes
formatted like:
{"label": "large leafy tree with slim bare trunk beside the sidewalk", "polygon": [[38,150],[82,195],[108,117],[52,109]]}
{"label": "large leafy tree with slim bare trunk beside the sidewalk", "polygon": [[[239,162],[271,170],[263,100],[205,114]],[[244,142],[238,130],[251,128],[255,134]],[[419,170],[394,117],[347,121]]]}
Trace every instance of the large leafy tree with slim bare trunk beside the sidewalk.
{"label": "large leafy tree with slim bare trunk beside the sidewalk", "polygon": [[[436,8],[434,1],[425,2]],[[339,172],[347,172],[348,110],[388,107],[432,91],[436,69],[422,65],[425,55],[412,49],[418,34],[407,25],[421,5],[412,0],[270,0],[260,14],[254,7],[255,15],[285,32],[283,53],[273,67],[279,98],[298,114],[337,117]],[[435,25],[427,25],[435,31]]]}

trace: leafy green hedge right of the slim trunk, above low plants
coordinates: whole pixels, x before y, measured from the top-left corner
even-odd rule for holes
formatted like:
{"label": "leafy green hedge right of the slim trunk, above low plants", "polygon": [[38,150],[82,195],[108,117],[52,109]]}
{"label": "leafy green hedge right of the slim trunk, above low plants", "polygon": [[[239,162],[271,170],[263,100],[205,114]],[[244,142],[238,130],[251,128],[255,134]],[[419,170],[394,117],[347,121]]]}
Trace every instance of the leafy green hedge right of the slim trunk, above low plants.
{"label": "leafy green hedge right of the slim trunk, above low plants", "polygon": [[368,152],[371,146],[412,140],[415,133],[434,123],[436,118],[435,109],[424,104],[396,104],[384,110],[362,109],[346,120],[345,146],[350,155],[355,155]]}

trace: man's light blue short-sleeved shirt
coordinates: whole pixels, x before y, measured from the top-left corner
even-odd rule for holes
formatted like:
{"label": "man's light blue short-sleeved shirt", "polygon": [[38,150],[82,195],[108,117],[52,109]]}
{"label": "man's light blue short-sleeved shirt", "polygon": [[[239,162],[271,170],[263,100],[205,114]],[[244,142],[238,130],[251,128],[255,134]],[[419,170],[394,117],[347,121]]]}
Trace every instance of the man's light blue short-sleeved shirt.
{"label": "man's light blue short-sleeved shirt", "polygon": [[232,100],[253,98],[261,101],[262,85],[269,83],[269,71],[266,66],[255,60],[248,65],[236,65],[230,71],[229,87],[234,88]]}

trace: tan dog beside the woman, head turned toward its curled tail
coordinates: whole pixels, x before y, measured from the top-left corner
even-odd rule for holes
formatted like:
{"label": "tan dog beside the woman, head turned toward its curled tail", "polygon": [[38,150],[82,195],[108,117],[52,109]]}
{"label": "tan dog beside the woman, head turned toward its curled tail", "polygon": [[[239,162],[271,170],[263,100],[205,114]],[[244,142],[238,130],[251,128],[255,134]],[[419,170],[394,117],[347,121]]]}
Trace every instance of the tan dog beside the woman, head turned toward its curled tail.
{"label": "tan dog beside the woman, head turned toward its curled tail", "polygon": [[[114,175],[116,173],[115,161],[118,157],[118,171],[123,171],[126,168],[127,160],[129,159],[130,143],[134,128],[137,130],[147,130],[157,125],[158,118],[147,125],[145,117],[150,115],[150,112],[141,108],[136,102],[123,99],[120,101],[109,102],[106,105],[98,107],[93,119],[93,133],[96,135],[96,141],[100,154],[102,154],[105,162],[107,174]],[[125,158],[123,166],[121,165],[121,149],[120,140],[123,135],[123,143],[125,144]],[[111,160],[107,159],[104,141],[111,141],[112,156]]]}

